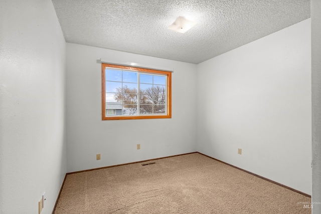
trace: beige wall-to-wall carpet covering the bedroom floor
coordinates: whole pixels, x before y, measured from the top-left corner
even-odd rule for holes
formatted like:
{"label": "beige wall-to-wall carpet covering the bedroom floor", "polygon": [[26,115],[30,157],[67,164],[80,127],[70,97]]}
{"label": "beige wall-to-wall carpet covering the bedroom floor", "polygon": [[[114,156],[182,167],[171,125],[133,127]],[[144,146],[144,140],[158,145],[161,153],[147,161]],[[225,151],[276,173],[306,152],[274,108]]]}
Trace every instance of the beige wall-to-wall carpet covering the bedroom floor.
{"label": "beige wall-to-wall carpet covering the bedroom floor", "polygon": [[311,213],[311,199],[199,153],[67,175],[59,213]]}

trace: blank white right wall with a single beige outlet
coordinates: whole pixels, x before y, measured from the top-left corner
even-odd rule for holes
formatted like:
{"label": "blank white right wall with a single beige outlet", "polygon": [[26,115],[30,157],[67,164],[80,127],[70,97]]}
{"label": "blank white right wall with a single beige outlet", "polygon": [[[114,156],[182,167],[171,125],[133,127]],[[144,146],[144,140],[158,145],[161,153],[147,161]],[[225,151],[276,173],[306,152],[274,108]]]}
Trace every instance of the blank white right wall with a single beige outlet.
{"label": "blank white right wall with a single beige outlet", "polygon": [[308,19],[199,64],[197,150],[311,194],[310,50]]}

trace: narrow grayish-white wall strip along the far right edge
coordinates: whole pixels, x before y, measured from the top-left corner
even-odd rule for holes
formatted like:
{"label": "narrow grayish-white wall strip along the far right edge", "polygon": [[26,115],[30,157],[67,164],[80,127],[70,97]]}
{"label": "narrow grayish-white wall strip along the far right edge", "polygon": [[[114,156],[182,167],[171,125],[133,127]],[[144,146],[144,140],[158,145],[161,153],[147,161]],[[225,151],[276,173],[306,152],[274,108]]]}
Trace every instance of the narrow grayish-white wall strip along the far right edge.
{"label": "narrow grayish-white wall strip along the far right edge", "polygon": [[312,213],[321,213],[321,2],[311,1],[312,43]]}

